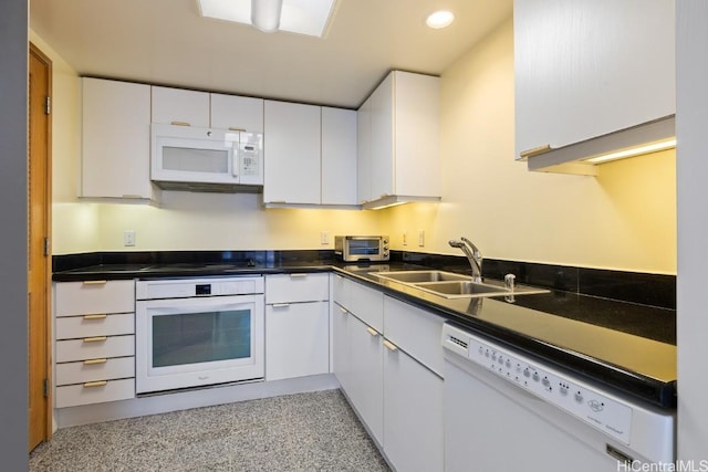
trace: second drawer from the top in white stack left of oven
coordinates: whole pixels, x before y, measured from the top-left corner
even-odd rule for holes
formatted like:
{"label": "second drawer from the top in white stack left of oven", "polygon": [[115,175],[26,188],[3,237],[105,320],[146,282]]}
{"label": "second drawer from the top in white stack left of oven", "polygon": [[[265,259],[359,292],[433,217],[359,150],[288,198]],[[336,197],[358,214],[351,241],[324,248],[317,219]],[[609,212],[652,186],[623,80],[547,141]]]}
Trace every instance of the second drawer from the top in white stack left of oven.
{"label": "second drawer from the top in white stack left of oven", "polygon": [[135,314],[83,315],[56,318],[56,339],[135,334]]}

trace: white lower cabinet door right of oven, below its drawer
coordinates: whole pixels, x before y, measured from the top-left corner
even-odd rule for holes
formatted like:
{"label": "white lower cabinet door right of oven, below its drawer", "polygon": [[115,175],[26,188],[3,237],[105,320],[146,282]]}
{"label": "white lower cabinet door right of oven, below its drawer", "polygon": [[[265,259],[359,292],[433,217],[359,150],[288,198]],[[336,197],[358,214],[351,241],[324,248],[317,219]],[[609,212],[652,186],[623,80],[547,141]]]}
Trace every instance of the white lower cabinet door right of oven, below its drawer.
{"label": "white lower cabinet door right of oven, below its drawer", "polygon": [[266,380],[330,371],[329,303],[266,306]]}

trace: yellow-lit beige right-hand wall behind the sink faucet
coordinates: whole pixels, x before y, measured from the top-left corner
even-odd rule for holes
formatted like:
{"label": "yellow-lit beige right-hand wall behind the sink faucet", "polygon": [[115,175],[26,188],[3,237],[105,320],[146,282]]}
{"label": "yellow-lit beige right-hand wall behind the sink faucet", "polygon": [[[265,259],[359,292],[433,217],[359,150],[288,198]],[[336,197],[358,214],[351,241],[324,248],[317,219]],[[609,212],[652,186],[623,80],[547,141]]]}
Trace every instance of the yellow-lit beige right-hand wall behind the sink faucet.
{"label": "yellow-lit beige right-hand wall behind the sink faucet", "polygon": [[595,178],[514,161],[511,19],[441,78],[444,202],[384,210],[394,249],[458,254],[447,241],[466,235],[493,259],[676,273],[674,150]]}

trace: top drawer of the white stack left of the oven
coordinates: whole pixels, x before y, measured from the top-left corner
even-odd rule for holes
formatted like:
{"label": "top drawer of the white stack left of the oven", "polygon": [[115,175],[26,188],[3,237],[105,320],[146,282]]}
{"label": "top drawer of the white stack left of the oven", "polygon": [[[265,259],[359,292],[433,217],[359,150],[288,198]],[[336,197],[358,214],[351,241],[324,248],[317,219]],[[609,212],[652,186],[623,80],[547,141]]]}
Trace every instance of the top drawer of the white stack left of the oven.
{"label": "top drawer of the white stack left of the oven", "polygon": [[60,282],[54,300],[56,316],[135,312],[135,282]]}

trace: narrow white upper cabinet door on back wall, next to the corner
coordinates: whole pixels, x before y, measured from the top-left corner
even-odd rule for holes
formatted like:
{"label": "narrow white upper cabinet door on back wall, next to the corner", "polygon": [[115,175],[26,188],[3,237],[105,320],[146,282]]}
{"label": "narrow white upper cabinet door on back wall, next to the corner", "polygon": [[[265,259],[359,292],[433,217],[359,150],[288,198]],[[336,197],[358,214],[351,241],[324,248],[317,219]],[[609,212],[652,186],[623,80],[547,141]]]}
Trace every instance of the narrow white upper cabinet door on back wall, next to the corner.
{"label": "narrow white upper cabinet door on back wall, next to the corner", "polygon": [[322,107],[322,203],[356,204],[356,112]]}

